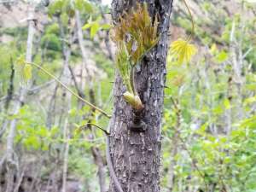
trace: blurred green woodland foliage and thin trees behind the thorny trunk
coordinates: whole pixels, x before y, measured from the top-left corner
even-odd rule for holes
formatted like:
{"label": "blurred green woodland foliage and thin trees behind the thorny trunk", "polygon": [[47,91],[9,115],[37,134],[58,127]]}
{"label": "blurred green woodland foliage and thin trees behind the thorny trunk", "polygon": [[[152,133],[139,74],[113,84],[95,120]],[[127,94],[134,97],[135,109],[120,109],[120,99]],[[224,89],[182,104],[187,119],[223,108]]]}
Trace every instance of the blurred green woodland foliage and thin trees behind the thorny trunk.
{"label": "blurred green woodland foliage and thin trees behind the thorny trunk", "polygon": [[[183,64],[172,50],[167,58],[162,191],[255,192],[256,4],[187,2],[195,20],[192,41],[197,54]],[[100,191],[100,172],[105,173],[108,186],[104,135],[91,127],[78,127],[88,122],[106,127],[108,119],[68,96],[35,68],[25,102],[19,113],[14,113],[20,79],[13,67],[26,53],[28,27],[26,21],[8,23],[15,15],[19,20],[26,18],[27,6],[37,15],[32,61],[79,96],[108,113],[112,111],[115,48],[110,41],[108,6],[84,0],[56,0],[48,7],[25,1],[0,3],[1,188],[6,182],[3,161],[8,152],[9,122],[18,119],[14,139],[17,174],[32,179],[23,179],[20,187],[30,191],[26,183],[32,182],[31,191],[51,190],[49,186],[54,185],[62,189],[67,171],[67,191]],[[175,1],[171,42],[190,34],[190,22],[182,1]]]}

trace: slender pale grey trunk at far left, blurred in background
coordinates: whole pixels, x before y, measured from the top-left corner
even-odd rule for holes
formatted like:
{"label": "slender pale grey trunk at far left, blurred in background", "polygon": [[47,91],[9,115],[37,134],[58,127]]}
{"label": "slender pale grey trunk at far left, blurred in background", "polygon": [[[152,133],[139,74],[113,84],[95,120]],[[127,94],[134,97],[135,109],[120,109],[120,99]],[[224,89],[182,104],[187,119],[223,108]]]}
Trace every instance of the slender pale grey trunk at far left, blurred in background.
{"label": "slender pale grey trunk at far left, blurred in background", "polygon": [[[33,6],[30,5],[28,10],[28,34],[26,42],[26,62],[32,61],[32,40],[34,36],[34,18],[33,18]],[[24,99],[26,97],[26,90],[20,88],[19,100],[15,103],[14,114],[19,113],[21,106],[23,105]],[[7,162],[7,186],[6,192],[12,192],[14,189],[14,179],[15,179],[15,169],[17,165],[14,160],[14,139],[16,131],[17,119],[13,119],[10,122],[9,134],[7,137],[7,146],[6,146],[6,162]]]}

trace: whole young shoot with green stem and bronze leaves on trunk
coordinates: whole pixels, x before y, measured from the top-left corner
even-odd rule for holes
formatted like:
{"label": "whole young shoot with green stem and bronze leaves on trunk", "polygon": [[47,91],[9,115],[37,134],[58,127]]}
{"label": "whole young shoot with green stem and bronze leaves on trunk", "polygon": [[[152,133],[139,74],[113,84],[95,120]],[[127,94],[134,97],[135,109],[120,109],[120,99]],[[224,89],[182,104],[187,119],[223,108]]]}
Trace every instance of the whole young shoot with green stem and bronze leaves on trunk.
{"label": "whole young shoot with green stem and bronze leaves on trunk", "polygon": [[137,8],[120,16],[119,24],[113,28],[112,38],[118,49],[116,66],[127,89],[124,98],[137,110],[143,109],[143,103],[135,89],[134,67],[158,43],[157,28],[157,16],[154,20],[150,17],[146,3],[137,3]]}

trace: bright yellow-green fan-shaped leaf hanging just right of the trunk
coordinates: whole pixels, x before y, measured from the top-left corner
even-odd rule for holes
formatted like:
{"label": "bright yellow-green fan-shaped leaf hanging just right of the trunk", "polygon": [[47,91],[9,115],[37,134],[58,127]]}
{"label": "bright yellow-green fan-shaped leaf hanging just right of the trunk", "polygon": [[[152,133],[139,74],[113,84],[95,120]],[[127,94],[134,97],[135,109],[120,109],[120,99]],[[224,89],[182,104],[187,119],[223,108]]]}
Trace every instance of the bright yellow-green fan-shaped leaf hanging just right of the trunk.
{"label": "bright yellow-green fan-shaped leaf hanging just right of the trunk", "polygon": [[171,44],[171,55],[177,58],[178,64],[188,63],[196,52],[195,45],[189,44],[188,41],[181,38]]}

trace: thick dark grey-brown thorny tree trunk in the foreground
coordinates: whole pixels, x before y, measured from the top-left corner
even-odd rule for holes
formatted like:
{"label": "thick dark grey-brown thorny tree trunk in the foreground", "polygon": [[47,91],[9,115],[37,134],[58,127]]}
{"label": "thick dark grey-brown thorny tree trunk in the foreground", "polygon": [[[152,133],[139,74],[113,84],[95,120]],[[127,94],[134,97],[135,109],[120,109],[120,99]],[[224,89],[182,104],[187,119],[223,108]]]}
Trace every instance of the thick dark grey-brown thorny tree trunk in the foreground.
{"label": "thick dark grey-brown thorny tree trunk in the foreground", "polygon": [[[113,0],[113,21],[137,1]],[[147,0],[151,15],[159,15],[160,41],[137,67],[135,81],[144,109],[141,119],[147,131],[129,130],[133,121],[131,106],[123,98],[125,86],[119,75],[114,84],[114,109],[111,120],[110,150],[114,171],[125,192],[160,191],[161,115],[166,80],[166,53],[172,0]],[[110,192],[116,192],[113,182]]]}

